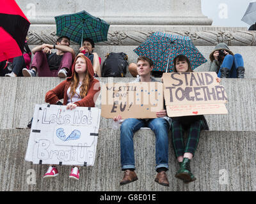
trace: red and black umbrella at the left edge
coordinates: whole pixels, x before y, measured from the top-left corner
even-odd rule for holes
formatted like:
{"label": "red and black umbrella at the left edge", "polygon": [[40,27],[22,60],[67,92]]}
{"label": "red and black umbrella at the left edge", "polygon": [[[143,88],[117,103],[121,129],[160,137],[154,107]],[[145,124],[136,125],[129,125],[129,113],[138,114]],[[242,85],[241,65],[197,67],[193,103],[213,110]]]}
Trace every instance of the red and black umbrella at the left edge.
{"label": "red and black umbrella at the left edge", "polygon": [[22,55],[29,25],[14,0],[0,0],[0,61]]}

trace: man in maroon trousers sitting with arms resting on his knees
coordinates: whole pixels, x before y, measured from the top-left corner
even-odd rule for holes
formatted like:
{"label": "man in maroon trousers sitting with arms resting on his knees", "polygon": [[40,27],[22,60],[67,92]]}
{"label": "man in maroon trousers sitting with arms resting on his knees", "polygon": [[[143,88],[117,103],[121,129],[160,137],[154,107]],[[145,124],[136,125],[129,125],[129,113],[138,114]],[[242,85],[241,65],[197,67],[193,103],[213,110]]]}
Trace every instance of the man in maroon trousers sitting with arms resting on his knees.
{"label": "man in maroon trousers sitting with arms resting on his knees", "polygon": [[[67,36],[61,36],[56,45],[43,44],[32,49],[34,54],[31,69],[22,69],[24,77],[61,77],[71,75],[72,60],[76,57],[74,50],[69,47],[70,40]],[[52,53],[52,49],[57,52]]]}

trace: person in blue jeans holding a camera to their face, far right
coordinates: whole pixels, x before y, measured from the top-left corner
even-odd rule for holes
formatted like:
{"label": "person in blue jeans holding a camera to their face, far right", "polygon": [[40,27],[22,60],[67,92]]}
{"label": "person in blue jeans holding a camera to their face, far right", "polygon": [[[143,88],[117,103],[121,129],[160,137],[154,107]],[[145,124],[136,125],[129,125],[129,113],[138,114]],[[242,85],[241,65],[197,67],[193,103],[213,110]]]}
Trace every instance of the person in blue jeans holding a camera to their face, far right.
{"label": "person in blue jeans holding a camera to their face, far right", "polygon": [[218,43],[209,56],[209,71],[220,78],[244,78],[244,61],[241,54],[233,54],[226,43]]}

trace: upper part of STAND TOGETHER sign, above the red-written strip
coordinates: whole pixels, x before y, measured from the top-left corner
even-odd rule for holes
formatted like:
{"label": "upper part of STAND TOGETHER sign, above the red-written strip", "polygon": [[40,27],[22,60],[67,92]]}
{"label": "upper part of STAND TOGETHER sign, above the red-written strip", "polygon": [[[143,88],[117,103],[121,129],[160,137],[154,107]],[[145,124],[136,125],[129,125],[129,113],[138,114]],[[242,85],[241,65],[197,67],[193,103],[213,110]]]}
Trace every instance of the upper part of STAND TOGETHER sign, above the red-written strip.
{"label": "upper part of STAND TOGETHER sign, above the red-written strip", "polygon": [[215,72],[164,73],[166,105],[226,103],[225,88],[216,78]]}

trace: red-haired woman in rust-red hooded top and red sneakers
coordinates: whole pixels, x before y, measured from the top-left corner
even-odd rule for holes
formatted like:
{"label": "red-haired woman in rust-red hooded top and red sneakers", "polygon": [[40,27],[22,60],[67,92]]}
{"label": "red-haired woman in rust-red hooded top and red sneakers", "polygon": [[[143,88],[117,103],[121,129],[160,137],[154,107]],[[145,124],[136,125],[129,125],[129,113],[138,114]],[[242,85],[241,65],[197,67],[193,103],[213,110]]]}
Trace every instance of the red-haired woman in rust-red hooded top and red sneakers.
{"label": "red-haired woman in rust-red hooded top and red sneakers", "polygon": [[[93,66],[90,59],[84,55],[77,56],[72,65],[72,77],[67,78],[45,95],[45,102],[50,104],[67,105],[68,110],[76,106],[94,107],[100,93],[99,80],[93,77]],[[56,177],[56,166],[49,166],[44,178]],[[74,166],[71,170],[71,179],[79,179],[79,169]]]}

